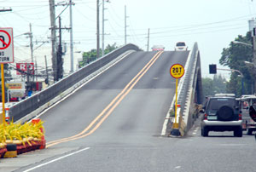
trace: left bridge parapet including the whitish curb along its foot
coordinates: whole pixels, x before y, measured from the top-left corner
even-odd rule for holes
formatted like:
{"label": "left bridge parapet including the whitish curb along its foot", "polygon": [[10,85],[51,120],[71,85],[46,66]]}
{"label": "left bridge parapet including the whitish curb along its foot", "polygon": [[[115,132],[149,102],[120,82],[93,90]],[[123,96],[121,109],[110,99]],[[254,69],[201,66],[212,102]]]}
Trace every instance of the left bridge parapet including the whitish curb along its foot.
{"label": "left bridge parapet including the whitish curb along its foot", "polygon": [[103,68],[110,66],[115,60],[123,56],[123,54],[131,51],[140,51],[140,49],[134,44],[126,44],[87,66],[80,68],[67,77],[62,78],[60,81],[50,85],[47,89],[38,92],[38,94],[32,95],[26,100],[21,100],[15,106],[9,108],[9,118],[14,122],[19,120],[23,123],[37,116],[57,100],[61,100],[65,95],[68,95],[91,77],[94,77],[96,73],[102,72]]}

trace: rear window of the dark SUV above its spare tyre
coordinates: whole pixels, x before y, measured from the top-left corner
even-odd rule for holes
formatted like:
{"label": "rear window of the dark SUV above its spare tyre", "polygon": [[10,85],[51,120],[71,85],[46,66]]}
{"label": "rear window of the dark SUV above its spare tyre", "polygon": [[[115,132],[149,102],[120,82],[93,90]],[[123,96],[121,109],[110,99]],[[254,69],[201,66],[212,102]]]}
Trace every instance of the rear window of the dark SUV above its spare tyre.
{"label": "rear window of the dark SUV above its spare tyre", "polygon": [[231,106],[233,107],[234,105],[236,105],[235,100],[231,100],[231,99],[212,99],[209,102],[209,106],[207,109],[211,109],[211,110],[218,110],[221,106]]}

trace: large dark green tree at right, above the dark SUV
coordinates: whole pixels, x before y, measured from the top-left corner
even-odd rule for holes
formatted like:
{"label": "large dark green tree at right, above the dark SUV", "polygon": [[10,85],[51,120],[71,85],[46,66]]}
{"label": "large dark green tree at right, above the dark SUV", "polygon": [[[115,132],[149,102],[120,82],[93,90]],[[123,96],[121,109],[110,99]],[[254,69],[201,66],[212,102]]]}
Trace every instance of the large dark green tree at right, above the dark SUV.
{"label": "large dark green tree at right, above the dark SUV", "polygon": [[[251,32],[247,32],[245,37],[239,35],[235,38],[235,41],[242,43],[252,43]],[[243,74],[243,78],[237,72],[232,72],[230,76],[230,82],[227,84],[227,92],[234,93],[237,96],[241,95],[243,92],[244,95],[252,94],[251,88],[253,84],[253,73],[250,72],[250,69],[244,61],[253,60],[253,51],[252,47],[241,44],[230,42],[229,48],[224,48],[219,63],[223,66],[229,66],[230,69],[235,69],[240,71]],[[243,91],[241,90],[241,83],[243,80]]]}

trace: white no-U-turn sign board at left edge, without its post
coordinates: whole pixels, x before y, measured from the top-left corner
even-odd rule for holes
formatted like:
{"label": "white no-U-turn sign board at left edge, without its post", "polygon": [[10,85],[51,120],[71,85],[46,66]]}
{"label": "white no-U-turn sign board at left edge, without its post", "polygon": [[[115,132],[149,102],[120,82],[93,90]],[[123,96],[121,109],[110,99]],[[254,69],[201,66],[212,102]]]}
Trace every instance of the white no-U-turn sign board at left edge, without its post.
{"label": "white no-U-turn sign board at left edge, without its post", "polygon": [[0,63],[14,62],[13,28],[0,28]]}

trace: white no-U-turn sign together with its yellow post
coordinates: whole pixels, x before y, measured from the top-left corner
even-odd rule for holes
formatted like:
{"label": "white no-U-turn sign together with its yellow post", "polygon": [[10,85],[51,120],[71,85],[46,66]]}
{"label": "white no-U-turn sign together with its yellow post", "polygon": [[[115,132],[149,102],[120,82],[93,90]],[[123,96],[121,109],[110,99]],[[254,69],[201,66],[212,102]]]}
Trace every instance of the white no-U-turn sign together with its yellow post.
{"label": "white no-U-turn sign together with its yellow post", "polygon": [[4,72],[3,64],[14,62],[14,39],[13,28],[6,27],[0,28],[0,64],[1,64],[1,77],[2,77],[2,103],[3,115],[0,117],[0,123],[5,123],[5,90],[4,90]]}

